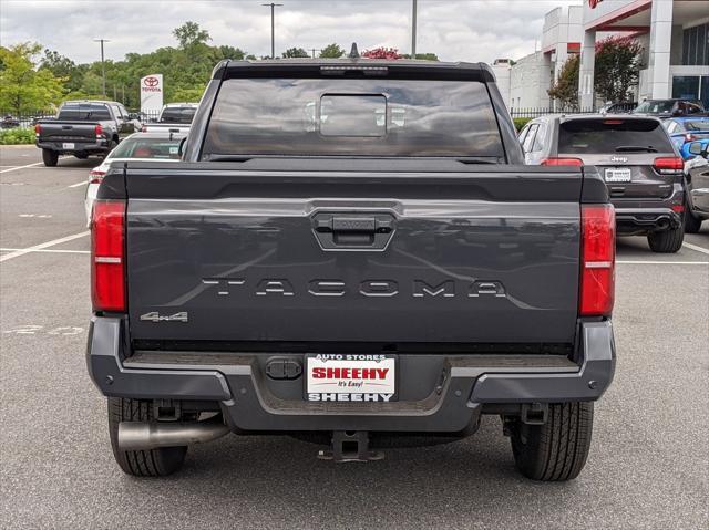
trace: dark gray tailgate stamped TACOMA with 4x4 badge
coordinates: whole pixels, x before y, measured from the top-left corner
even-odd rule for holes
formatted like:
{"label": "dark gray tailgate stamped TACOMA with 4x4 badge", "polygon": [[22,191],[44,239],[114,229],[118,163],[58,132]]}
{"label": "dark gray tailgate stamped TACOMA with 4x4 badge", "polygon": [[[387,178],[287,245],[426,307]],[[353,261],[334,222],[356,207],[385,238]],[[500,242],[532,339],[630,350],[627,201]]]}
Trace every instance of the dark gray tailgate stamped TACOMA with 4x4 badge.
{"label": "dark gray tailgate stamped TACOMA with 4x4 badge", "polygon": [[133,339],[574,340],[579,169],[153,166],[126,170]]}

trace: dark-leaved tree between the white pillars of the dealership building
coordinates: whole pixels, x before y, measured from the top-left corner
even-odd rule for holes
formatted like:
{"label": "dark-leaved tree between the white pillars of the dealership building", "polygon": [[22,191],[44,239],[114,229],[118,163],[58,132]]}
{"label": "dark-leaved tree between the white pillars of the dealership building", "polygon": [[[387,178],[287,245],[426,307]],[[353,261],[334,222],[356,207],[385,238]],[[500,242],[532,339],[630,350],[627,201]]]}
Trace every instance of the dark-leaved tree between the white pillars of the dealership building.
{"label": "dark-leaved tree between the white pillars of the dealership building", "polygon": [[638,82],[641,54],[643,46],[628,37],[608,37],[596,43],[594,86],[604,102],[630,98],[630,89]]}

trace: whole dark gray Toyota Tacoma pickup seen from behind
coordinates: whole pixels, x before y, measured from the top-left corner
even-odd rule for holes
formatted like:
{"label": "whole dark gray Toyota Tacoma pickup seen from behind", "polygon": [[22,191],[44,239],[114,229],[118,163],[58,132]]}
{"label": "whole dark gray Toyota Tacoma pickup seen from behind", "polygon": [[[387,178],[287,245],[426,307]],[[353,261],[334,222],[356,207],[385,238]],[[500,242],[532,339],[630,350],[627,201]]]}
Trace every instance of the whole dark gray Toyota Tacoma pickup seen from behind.
{"label": "whole dark gray Toyota Tacoma pickup seen from behind", "polygon": [[614,210],[594,167],[523,165],[486,65],[225,61],[182,152],[93,209],[86,361],[125,472],[227,433],[372,460],[495,415],[522,474],[578,475]]}

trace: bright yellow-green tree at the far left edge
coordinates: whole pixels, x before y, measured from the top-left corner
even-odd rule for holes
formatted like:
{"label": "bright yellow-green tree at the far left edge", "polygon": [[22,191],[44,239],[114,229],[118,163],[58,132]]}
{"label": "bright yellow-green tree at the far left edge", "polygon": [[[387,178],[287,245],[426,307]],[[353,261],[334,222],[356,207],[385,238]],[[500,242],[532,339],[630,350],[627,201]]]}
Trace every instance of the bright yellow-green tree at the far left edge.
{"label": "bright yellow-green tree at the far left edge", "polygon": [[23,42],[0,46],[0,108],[17,114],[48,110],[61,101],[64,79],[47,69],[37,70],[34,58],[42,46]]}

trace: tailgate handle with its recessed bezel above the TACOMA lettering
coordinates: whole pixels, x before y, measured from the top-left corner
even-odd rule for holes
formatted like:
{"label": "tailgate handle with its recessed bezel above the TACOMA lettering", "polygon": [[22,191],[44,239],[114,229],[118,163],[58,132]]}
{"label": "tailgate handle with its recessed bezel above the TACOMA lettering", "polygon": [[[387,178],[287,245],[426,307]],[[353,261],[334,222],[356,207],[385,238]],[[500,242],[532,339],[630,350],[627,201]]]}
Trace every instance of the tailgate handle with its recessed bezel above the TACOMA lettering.
{"label": "tailgate handle with its recessed bezel above the TACOMA lettering", "polygon": [[323,250],[383,250],[394,231],[394,217],[388,212],[367,216],[321,212],[312,221]]}

